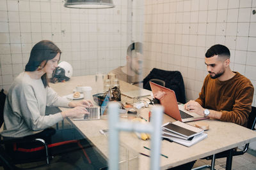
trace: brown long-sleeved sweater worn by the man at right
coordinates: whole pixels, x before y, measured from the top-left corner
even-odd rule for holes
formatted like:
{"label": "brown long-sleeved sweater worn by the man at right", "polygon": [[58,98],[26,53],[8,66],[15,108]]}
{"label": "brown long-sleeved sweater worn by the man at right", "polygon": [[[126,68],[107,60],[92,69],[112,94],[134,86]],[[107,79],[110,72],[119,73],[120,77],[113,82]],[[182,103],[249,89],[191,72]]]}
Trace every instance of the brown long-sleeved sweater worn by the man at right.
{"label": "brown long-sleeved sweater worn by the man at right", "polygon": [[234,73],[235,76],[226,81],[212,79],[208,74],[196,101],[203,108],[221,111],[221,121],[246,125],[252,110],[254,88],[248,78]]}

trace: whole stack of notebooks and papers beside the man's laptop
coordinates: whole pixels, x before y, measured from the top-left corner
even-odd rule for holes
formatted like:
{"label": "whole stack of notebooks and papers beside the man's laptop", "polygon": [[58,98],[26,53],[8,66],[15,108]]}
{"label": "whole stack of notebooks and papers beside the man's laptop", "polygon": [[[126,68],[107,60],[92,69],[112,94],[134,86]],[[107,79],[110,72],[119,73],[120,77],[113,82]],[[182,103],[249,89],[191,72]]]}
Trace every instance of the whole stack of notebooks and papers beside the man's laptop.
{"label": "whole stack of notebooks and papers beside the man's laptop", "polygon": [[192,146],[207,138],[203,129],[180,121],[168,122],[162,126],[162,138],[169,139],[184,146]]}

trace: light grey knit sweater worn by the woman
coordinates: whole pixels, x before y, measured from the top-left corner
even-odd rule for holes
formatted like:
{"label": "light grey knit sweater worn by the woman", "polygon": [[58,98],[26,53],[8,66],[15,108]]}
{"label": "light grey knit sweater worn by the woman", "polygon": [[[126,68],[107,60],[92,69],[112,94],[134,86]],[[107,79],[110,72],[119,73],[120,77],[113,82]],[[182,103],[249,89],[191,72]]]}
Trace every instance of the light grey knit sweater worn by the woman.
{"label": "light grey knit sweater worn by the woman", "polygon": [[35,80],[23,72],[13,81],[4,105],[5,137],[35,134],[63,120],[61,113],[45,115],[45,106],[68,107],[69,101],[59,97],[41,79]]}

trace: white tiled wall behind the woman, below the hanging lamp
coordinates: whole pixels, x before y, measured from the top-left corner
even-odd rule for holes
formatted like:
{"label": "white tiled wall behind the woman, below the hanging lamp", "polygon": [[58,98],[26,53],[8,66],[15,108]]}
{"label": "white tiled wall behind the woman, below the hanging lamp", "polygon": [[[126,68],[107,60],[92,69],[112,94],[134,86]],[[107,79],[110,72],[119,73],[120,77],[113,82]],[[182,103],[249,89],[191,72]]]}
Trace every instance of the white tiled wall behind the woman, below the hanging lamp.
{"label": "white tiled wall behind the woman, below the hanging lamp", "polygon": [[141,1],[115,0],[115,8],[100,10],[64,8],[63,2],[0,0],[0,88],[8,90],[42,39],[59,46],[74,76],[124,65],[127,46],[142,40]]}

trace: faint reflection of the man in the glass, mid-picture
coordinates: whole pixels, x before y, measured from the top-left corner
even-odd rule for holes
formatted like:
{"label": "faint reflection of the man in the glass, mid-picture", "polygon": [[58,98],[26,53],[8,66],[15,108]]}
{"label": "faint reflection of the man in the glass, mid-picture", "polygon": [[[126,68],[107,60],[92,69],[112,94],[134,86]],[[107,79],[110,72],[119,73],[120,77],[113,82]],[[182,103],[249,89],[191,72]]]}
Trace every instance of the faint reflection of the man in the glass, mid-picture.
{"label": "faint reflection of the man in the glass, mid-picture", "polygon": [[111,73],[116,74],[116,78],[128,83],[140,81],[140,74],[142,72],[142,57],[143,46],[142,43],[132,43],[127,48],[126,65],[113,69]]}

